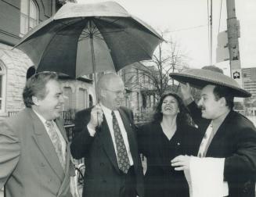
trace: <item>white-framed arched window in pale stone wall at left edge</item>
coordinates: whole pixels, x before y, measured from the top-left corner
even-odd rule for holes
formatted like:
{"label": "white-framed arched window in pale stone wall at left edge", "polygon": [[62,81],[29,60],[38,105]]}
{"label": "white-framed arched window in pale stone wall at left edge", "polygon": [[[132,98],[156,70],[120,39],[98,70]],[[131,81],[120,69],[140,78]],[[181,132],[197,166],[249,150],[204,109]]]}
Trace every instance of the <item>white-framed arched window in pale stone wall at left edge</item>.
{"label": "white-framed arched window in pale stone wall at left edge", "polygon": [[4,64],[0,61],[0,113],[5,112],[5,67]]}

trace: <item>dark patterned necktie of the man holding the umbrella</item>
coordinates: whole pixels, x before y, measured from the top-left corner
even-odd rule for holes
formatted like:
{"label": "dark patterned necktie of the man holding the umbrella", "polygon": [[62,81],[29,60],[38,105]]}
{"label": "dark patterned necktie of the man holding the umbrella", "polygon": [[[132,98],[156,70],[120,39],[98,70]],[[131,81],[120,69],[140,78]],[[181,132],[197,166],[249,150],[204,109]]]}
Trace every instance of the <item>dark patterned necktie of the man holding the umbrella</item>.
{"label": "dark patterned necktie of the man holding the umbrella", "polygon": [[121,134],[120,127],[117,123],[117,117],[114,114],[114,111],[112,111],[113,116],[113,130],[114,130],[114,139],[116,141],[116,148],[117,148],[117,162],[118,167],[121,171],[126,174],[128,172],[128,169],[130,167],[130,162],[127,154],[127,150],[124,145],[124,138]]}

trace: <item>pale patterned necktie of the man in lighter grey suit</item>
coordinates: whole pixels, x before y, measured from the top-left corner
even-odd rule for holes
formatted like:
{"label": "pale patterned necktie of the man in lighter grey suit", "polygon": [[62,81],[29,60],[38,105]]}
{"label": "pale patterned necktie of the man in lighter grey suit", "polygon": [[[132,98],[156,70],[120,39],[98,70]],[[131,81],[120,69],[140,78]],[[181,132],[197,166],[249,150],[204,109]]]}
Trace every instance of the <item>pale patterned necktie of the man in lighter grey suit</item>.
{"label": "pale patterned necktie of the man in lighter grey suit", "polygon": [[63,169],[65,169],[65,156],[63,155],[63,152],[62,152],[62,147],[61,147],[61,141],[59,139],[59,135],[57,134],[57,131],[53,125],[53,122],[52,121],[49,121],[47,120],[45,122],[46,126],[48,127],[49,129],[49,137],[51,138],[51,141],[52,141],[52,145],[54,146],[55,150],[56,150],[56,153],[57,153],[57,156],[59,158],[59,162],[61,164],[61,166],[63,167]]}

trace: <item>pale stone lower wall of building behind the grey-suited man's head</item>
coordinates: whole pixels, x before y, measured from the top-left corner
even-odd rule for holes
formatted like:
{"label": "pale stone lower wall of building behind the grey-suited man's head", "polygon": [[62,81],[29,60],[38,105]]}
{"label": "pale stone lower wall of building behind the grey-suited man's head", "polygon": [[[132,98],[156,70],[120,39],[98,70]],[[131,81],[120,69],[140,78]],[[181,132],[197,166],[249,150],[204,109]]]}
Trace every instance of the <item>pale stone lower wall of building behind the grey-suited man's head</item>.
{"label": "pale stone lower wall of building behind the grey-suited man's head", "polygon": [[[8,45],[0,43],[0,61],[5,67],[6,89],[3,92],[5,96],[5,110],[0,113],[0,120],[8,116],[8,112],[20,111],[24,108],[22,92],[26,84],[26,75],[29,67],[33,66],[31,59],[18,49],[12,49]],[[63,80],[62,87],[70,87],[72,90],[72,109],[78,109],[79,88],[86,90],[86,107],[88,107],[91,95],[93,104],[96,103],[94,85],[77,80]]]}

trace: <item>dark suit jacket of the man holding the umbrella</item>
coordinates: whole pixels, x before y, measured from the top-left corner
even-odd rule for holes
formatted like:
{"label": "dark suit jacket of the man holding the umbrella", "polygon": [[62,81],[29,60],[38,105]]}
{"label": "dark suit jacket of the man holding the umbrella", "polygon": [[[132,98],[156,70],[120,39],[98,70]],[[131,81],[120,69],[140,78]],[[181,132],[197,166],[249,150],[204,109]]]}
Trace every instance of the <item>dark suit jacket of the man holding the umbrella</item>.
{"label": "dark suit jacket of the man holding the umbrella", "polygon": [[[109,127],[104,116],[103,123],[91,137],[87,124],[92,109],[84,109],[76,114],[75,132],[71,143],[71,153],[75,159],[85,157],[85,185],[83,196],[86,197],[118,197],[121,188],[122,176],[117,166],[117,157]],[[135,125],[132,120],[132,111],[126,108],[119,109],[125,130],[128,134],[132,159],[135,168],[136,190],[143,196],[142,164],[138,153]]]}

